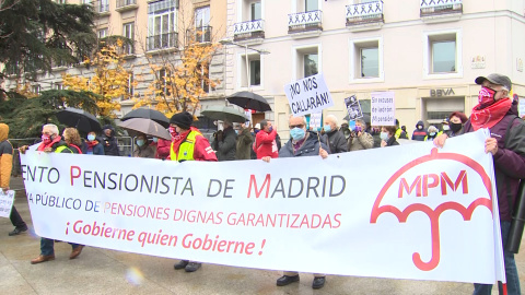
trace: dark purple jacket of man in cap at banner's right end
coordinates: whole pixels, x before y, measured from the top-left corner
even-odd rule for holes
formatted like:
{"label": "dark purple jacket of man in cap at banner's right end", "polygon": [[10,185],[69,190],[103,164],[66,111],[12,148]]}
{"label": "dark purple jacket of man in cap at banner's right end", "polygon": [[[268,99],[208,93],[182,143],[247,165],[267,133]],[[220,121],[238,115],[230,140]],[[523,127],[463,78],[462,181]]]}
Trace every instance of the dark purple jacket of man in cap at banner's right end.
{"label": "dark purple jacket of man in cap at banner's right end", "polygon": [[[470,119],[465,123],[464,130],[465,133],[474,131]],[[493,161],[500,220],[512,221],[520,179],[525,179],[525,123],[517,118],[516,101],[503,119],[490,128],[490,135],[498,140],[498,152]]]}

